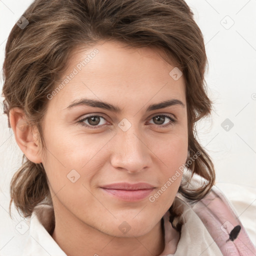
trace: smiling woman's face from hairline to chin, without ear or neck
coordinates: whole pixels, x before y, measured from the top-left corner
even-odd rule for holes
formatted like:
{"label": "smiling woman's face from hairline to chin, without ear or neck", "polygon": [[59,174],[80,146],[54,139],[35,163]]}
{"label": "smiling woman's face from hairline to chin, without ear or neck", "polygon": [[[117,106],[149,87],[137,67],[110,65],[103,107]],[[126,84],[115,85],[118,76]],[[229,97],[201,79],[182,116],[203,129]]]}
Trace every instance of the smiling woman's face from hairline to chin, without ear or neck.
{"label": "smiling woman's face from hairline to chin, without ear or neck", "polygon": [[[139,236],[159,222],[181,181],[185,80],[157,50],[121,46],[108,41],[72,54],[62,86],[48,95],[41,161],[63,221]],[[148,186],[111,185],[123,182]]]}

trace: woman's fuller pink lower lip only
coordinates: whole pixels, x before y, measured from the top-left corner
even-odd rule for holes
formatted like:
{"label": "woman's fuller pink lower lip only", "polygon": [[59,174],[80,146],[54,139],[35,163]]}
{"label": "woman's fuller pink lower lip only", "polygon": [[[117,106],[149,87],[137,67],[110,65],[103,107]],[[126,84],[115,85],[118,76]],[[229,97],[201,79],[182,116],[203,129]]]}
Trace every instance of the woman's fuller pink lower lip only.
{"label": "woman's fuller pink lower lip only", "polygon": [[153,188],[149,189],[140,189],[140,190],[120,190],[120,189],[110,189],[110,188],[103,188],[105,192],[108,194],[118,197],[124,201],[138,201],[146,198],[152,191]]}

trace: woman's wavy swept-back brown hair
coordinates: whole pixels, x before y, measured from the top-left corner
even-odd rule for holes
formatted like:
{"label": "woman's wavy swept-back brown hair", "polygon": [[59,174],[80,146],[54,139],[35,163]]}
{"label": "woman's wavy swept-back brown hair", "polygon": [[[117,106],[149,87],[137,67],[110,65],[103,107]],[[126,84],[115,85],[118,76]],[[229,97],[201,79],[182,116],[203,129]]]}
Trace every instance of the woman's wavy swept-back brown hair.
{"label": "woman's wavy swept-back brown hair", "polygon": [[[29,125],[39,131],[44,148],[42,120],[51,93],[65,69],[71,50],[91,47],[103,40],[118,40],[131,47],[158,48],[168,61],[176,61],[186,81],[188,157],[200,152],[187,164],[206,182],[196,189],[185,183],[179,192],[198,200],[215,180],[213,163],[196,140],[194,124],[210,114],[204,72],[207,58],[202,33],[184,0],[35,0],[23,13],[28,24],[15,24],[8,36],[3,63],[4,113],[12,107],[24,110]],[[24,20],[24,18],[23,18]],[[25,161],[24,161],[25,160]],[[42,163],[33,163],[25,155],[22,166],[10,184],[10,204],[25,217],[34,206],[51,202]]]}

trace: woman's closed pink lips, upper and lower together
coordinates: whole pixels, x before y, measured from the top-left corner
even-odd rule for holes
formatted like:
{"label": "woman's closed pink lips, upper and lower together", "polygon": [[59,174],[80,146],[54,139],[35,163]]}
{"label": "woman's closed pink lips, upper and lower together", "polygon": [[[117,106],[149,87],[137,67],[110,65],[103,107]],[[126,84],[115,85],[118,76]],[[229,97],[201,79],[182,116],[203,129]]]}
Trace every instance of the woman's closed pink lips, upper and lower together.
{"label": "woman's closed pink lips, upper and lower together", "polygon": [[153,191],[154,186],[148,183],[140,182],[136,184],[115,183],[101,186],[102,190],[111,197],[122,201],[139,201],[145,199]]}

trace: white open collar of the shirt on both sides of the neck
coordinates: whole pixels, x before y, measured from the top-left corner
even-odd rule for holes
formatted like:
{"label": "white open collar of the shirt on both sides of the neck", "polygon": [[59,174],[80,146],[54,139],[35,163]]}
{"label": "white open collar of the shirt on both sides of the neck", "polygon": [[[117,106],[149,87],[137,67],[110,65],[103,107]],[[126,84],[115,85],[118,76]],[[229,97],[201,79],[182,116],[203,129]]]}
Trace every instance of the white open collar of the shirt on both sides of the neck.
{"label": "white open collar of the shirt on both sides of the neck", "polygon": [[[170,254],[168,233],[170,233],[171,223],[168,220],[169,212],[167,211],[163,216],[165,247],[160,255],[222,256],[220,249],[197,214],[185,202],[178,198],[175,199],[178,200],[183,212],[180,239],[175,254]],[[37,205],[30,218],[29,235],[22,256],[67,256],[51,237],[50,233],[53,229],[54,212],[52,206]]]}

